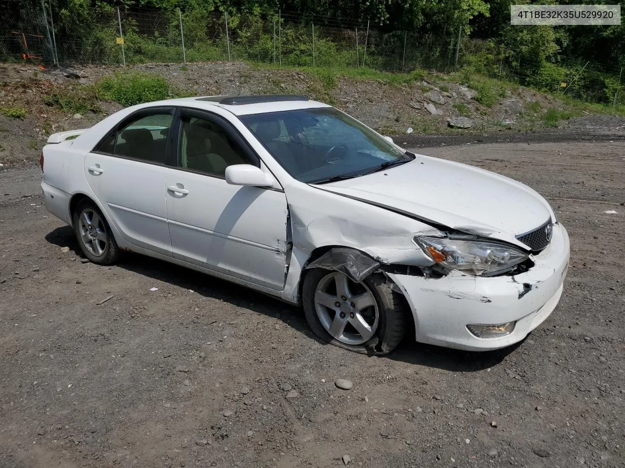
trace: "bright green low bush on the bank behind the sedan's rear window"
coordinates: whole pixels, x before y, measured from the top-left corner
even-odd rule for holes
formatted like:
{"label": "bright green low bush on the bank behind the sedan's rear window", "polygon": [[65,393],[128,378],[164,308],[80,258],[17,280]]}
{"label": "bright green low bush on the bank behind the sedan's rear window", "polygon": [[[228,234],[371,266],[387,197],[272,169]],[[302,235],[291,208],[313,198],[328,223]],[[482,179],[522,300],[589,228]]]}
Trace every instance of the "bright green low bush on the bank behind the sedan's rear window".
{"label": "bright green low bush on the bank behind the sedan's rear window", "polygon": [[121,105],[136,105],[167,99],[169,83],[161,76],[149,73],[116,73],[96,83],[101,99],[114,100]]}

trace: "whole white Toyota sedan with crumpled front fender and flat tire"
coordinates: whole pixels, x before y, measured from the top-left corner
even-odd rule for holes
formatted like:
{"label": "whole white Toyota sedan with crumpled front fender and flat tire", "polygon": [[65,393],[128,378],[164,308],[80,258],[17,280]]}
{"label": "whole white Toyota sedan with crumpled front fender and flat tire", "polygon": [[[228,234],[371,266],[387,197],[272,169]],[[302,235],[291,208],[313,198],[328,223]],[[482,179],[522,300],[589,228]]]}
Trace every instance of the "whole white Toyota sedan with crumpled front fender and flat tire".
{"label": "whole white Toyota sedan with crumpled front fender and flat tire", "polygon": [[451,348],[517,343],[567,272],[567,232],[531,188],[302,96],[136,105],[51,135],[41,167],[48,210],[94,263],[130,250],[248,286],[361,353],[413,327]]}

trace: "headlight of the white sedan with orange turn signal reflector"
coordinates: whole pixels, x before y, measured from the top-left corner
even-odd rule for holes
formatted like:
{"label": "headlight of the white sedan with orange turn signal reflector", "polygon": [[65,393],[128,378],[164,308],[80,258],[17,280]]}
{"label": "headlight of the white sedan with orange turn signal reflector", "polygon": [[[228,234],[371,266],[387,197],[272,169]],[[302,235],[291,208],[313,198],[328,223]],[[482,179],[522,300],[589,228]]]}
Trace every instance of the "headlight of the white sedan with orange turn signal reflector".
{"label": "headlight of the white sedan with orange turn signal reflector", "polygon": [[439,265],[474,276],[509,270],[528,258],[522,250],[488,241],[416,236],[414,242]]}

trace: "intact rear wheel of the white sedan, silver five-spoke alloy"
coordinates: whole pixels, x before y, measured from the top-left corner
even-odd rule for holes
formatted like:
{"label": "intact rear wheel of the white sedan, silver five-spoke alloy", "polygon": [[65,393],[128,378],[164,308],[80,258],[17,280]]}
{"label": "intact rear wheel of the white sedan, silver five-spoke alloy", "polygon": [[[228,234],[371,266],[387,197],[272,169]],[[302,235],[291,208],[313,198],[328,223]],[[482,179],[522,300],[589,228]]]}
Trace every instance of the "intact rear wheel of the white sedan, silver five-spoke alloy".
{"label": "intact rear wheel of the white sedan, silver five-spoke alloy", "polygon": [[74,233],[89,260],[109,265],[119,257],[119,247],[102,213],[93,202],[80,202],[74,212]]}

